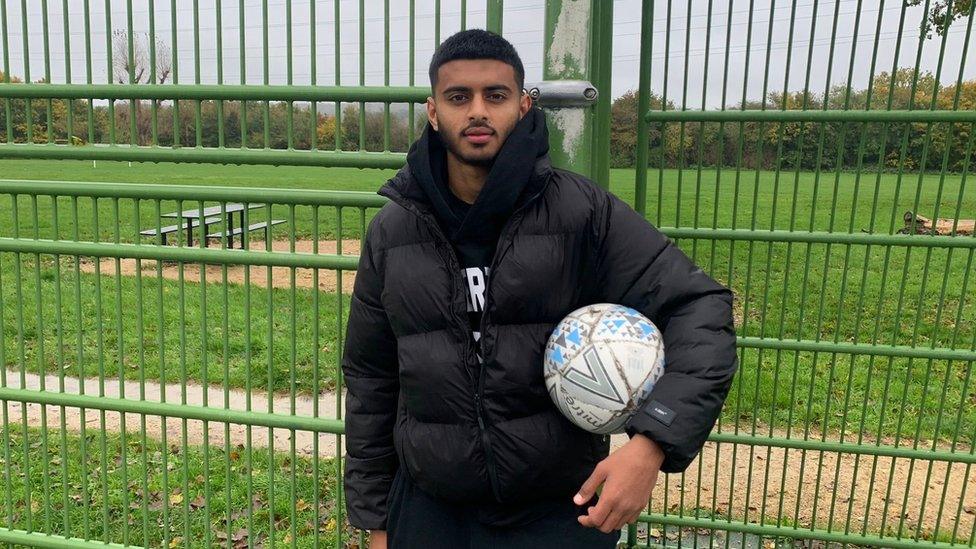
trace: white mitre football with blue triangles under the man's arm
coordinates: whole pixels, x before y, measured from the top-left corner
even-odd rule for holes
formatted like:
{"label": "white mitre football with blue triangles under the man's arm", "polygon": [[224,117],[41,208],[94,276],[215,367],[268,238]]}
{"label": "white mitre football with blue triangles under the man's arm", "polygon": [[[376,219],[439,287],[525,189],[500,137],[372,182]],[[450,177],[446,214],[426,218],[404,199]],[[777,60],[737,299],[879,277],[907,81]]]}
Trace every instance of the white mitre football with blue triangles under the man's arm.
{"label": "white mitre football with blue triangles under the man's arm", "polygon": [[543,370],[549,395],[573,423],[621,433],[664,373],[664,342],[630,307],[587,305],[556,325]]}

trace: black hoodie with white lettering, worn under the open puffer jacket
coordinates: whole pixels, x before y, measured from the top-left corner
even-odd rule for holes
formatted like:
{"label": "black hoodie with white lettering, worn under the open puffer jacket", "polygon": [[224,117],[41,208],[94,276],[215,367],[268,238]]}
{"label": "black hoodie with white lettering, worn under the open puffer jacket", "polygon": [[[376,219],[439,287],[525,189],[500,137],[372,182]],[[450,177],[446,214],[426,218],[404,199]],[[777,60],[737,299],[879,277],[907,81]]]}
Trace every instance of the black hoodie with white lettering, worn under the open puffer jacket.
{"label": "black hoodie with white lettering, worn under the open puffer jacket", "polygon": [[519,197],[538,190],[541,181],[535,171],[536,160],[548,152],[545,116],[539,109],[530,109],[499,150],[474,204],[464,202],[451,191],[447,149],[440,133],[430,124],[407,154],[407,165],[426,193],[434,217],[461,264],[461,277],[468,285],[468,316],[476,347],[481,338],[479,325],[498,235]]}

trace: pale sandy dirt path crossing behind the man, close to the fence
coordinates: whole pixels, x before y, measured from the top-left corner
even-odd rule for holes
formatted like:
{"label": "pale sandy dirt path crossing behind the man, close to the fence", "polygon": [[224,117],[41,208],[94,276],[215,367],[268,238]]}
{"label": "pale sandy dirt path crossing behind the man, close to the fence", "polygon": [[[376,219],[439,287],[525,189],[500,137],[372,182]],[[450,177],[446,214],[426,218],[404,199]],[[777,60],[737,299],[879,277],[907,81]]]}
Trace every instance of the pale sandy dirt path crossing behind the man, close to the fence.
{"label": "pale sandy dirt path crossing behind the man, close to the fence", "polygon": [[[47,376],[45,387],[57,390],[58,379]],[[85,381],[87,394],[98,394],[98,380]],[[20,376],[17,372],[8,372],[8,386],[19,387]],[[40,377],[27,375],[27,388],[39,389]],[[66,378],[65,392],[78,393],[80,383],[77,379]],[[106,394],[117,397],[120,394],[118,381],[106,380]],[[139,384],[126,382],[122,386],[126,398],[138,398]],[[146,384],[146,400],[161,401],[163,390],[160,386]],[[204,390],[200,386],[188,386],[186,402],[192,405],[202,405]],[[181,402],[181,388],[169,385],[165,388],[166,401]],[[223,406],[224,391],[218,387],[209,387],[208,401],[211,406]],[[246,395],[244,391],[229,392],[230,407],[244,409]],[[271,399],[275,413],[288,414],[291,402],[288,395],[275,395]],[[7,403],[11,421],[20,421],[23,407],[19,403]],[[251,393],[251,407],[254,410],[267,411],[268,398],[265,393]],[[27,406],[28,423],[40,425],[40,405]],[[295,401],[297,415],[312,416],[313,400],[308,396],[298,397]],[[336,410],[336,396],[325,393],[319,397],[320,416],[334,418]],[[87,411],[86,417],[81,418],[80,411],[67,408],[66,421],[72,432],[80,430],[80,424],[85,422],[87,428],[102,428],[99,415],[95,411]],[[57,430],[60,425],[60,410],[56,406],[48,406],[48,428]],[[129,433],[138,433],[141,417],[136,414],[126,414],[126,428]],[[165,429],[171,444],[182,443],[182,422],[178,419],[167,420]],[[163,421],[154,416],[146,417],[147,433],[150,437],[160,438]],[[106,413],[105,429],[118,432],[121,425],[120,414]],[[283,429],[254,428],[252,430],[252,444],[255,447],[266,447],[273,436],[276,449],[290,448],[290,433]],[[230,442],[232,445],[243,444],[246,440],[246,428],[240,425],[230,425]],[[187,444],[201,445],[204,443],[203,424],[200,421],[187,422]],[[767,434],[762,433],[762,434]],[[773,436],[785,436],[785,433],[775,432]],[[819,433],[811,433],[811,438],[819,438]],[[299,455],[309,456],[313,452],[315,435],[307,432],[295,433],[295,446]],[[626,442],[626,436],[614,436],[614,448]],[[223,446],[224,425],[218,422],[210,423],[209,442]],[[871,441],[865,441],[870,443]],[[882,441],[891,444],[892,441]],[[924,445],[922,445],[924,447]],[[652,507],[660,512],[664,508],[664,492],[667,491],[667,507],[677,511],[679,507],[691,509],[700,506],[712,508],[713,502],[717,512],[723,515],[731,514],[735,518],[746,517],[750,522],[759,520],[760,513],[765,512],[768,519],[775,518],[779,513],[780,495],[782,494],[783,516],[789,520],[796,519],[801,527],[826,527],[833,507],[833,522],[835,527],[843,528],[847,513],[851,513],[852,531],[860,531],[864,526],[865,516],[868,517],[867,528],[877,531],[882,520],[888,527],[898,528],[899,520],[904,519],[906,532],[914,533],[921,524],[922,532],[932,532],[937,520],[939,531],[951,532],[953,522],[958,514],[960,524],[957,536],[968,538],[974,527],[974,513],[976,513],[976,472],[966,478],[966,467],[955,464],[951,467],[944,462],[915,461],[908,459],[892,460],[878,458],[876,466],[871,457],[806,452],[805,456],[799,450],[783,450],[757,446],[750,449],[738,446],[733,459],[733,448],[730,444],[716,444],[709,442],[702,450],[702,454],[688,468],[684,478],[680,475],[667,475],[659,479],[655,491]],[[963,450],[963,451],[968,451]],[[319,436],[319,454],[322,457],[336,455],[336,437],[334,435]],[[894,463],[893,463],[894,462]],[[893,465],[893,469],[892,469]],[[751,466],[751,471],[750,471]],[[931,474],[928,468],[931,466]],[[872,469],[875,476],[872,482]],[[801,474],[802,470],[802,474]],[[785,474],[784,474],[785,471]],[[856,471],[856,475],[855,475]],[[698,483],[702,479],[701,485]],[[886,493],[889,478],[893,479],[890,494]],[[910,478],[910,482],[909,482]],[[853,492],[852,492],[852,480]],[[819,490],[817,489],[819,486]],[[907,487],[907,490],[906,490]],[[907,492],[907,503],[906,501]],[[868,508],[868,499],[871,507]],[[944,496],[944,508],[939,519],[939,503]],[[965,500],[962,500],[962,498]],[[960,505],[960,501],[962,503]],[[797,502],[799,501],[799,505]],[[887,509],[885,506],[887,505]],[[961,511],[961,512],[960,512]]]}

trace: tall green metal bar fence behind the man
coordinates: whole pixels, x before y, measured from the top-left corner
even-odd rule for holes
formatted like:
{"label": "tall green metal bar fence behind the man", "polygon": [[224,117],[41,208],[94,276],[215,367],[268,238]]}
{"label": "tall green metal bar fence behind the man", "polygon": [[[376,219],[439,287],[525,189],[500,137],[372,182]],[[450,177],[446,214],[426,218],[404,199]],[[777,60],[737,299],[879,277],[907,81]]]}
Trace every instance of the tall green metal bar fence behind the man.
{"label": "tall green metal bar fence behind the man", "polygon": [[[600,90],[547,111],[557,162],[736,292],[725,410],[629,546],[976,546],[973,9],[504,6],[530,78]],[[502,14],[500,0],[0,0],[0,158],[395,168],[419,129],[424,55],[457,28],[502,30]],[[14,83],[37,67],[51,83]],[[628,75],[630,121],[610,112]],[[629,123],[636,146],[621,146]],[[636,168],[611,171],[627,147]],[[0,542],[362,546],[343,518],[337,363],[383,203],[0,179]],[[236,204],[258,206],[228,217]],[[205,207],[283,223],[245,232],[244,249],[203,238],[227,221],[192,228],[192,245],[182,226],[168,245],[140,234]],[[906,211],[948,228],[920,234]]]}

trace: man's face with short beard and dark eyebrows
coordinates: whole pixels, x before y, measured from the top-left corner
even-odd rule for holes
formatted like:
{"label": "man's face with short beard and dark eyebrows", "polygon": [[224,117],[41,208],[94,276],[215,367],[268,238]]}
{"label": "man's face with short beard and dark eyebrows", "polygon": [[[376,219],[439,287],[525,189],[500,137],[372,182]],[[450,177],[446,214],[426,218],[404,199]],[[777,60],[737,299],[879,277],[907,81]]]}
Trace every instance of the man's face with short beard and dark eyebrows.
{"label": "man's face with short beard and dark eyebrows", "polygon": [[508,63],[458,59],[438,69],[427,118],[458,161],[487,166],[531,106]]}

